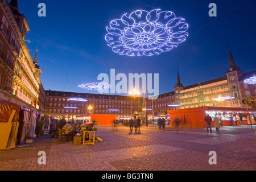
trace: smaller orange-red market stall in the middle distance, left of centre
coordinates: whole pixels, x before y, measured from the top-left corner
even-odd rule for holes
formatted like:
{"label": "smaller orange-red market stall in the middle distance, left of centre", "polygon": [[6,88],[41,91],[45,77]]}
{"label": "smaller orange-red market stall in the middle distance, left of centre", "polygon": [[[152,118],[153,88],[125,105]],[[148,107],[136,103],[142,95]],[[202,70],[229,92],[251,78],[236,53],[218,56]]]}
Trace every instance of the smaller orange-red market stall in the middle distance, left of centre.
{"label": "smaller orange-red market stall in the middle distance, left of centre", "polygon": [[86,114],[77,116],[77,120],[88,119],[89,121],[98,121],[97,125],[113,125],[114,119],[117,118],[117,114]]}

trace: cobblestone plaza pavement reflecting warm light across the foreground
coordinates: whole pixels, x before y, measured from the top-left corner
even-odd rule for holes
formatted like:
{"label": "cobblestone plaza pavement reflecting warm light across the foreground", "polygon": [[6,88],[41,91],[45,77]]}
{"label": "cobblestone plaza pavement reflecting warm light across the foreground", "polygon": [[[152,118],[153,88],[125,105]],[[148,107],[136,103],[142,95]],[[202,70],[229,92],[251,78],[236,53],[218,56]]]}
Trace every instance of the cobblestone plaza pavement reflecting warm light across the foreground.
{"label": "cobblestone plaza pavement reflecting warm light across the foreground", "polygon": [[[129,134],[125,126],[97,126],[95,145],[58,143],[39,137],[29,145],[0,151],[1,171],[255,171],[256,145],[250,126],[206,129],[141,127]],[[255,125],[253,126],[254,131]],[[39,151],[46,164],[38,163]],[[210,151],[217,164],[209,164]]]}

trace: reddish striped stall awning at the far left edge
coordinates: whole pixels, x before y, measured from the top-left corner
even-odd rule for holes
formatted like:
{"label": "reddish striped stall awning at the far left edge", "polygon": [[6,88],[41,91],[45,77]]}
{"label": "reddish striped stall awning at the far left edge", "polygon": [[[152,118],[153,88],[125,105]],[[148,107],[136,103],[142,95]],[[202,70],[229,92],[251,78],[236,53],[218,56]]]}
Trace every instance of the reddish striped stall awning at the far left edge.
{"label": "reddish striped stall awning at the far left edge", "polygon": [[10,118],[11,112],[16,110],[13,118],[13,122],[19,120],[20,106],[6,100],[0,100],[0,122],[7,122]]}

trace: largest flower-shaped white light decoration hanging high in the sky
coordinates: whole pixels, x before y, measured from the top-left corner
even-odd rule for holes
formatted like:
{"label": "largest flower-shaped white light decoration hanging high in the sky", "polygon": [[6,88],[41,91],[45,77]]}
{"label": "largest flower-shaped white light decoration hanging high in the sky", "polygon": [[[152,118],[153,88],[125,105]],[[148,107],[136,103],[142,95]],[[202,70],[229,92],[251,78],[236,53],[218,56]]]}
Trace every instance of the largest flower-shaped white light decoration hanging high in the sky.
{"label": "largest flower-shaped white light decoration hanging high in the sky", "polygon": [[177,47],[187,39],[188,24],[172,11],[137,10],[114,19],[105,40],[119,55],[152,56]]}

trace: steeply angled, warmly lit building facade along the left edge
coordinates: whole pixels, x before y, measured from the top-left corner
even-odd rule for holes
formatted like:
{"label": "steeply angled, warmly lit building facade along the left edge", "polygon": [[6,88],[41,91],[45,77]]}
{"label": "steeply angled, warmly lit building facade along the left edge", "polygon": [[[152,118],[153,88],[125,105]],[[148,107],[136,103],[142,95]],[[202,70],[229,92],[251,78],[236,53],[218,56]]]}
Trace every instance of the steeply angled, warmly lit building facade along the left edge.
{"label": "steeply angled, warmly lit building facade along the left edge", "polygon": [[18,0],[0,1],[0,99],[43,113],[45,93],[40,81],[42,70],[26,46],[30,31]]}

